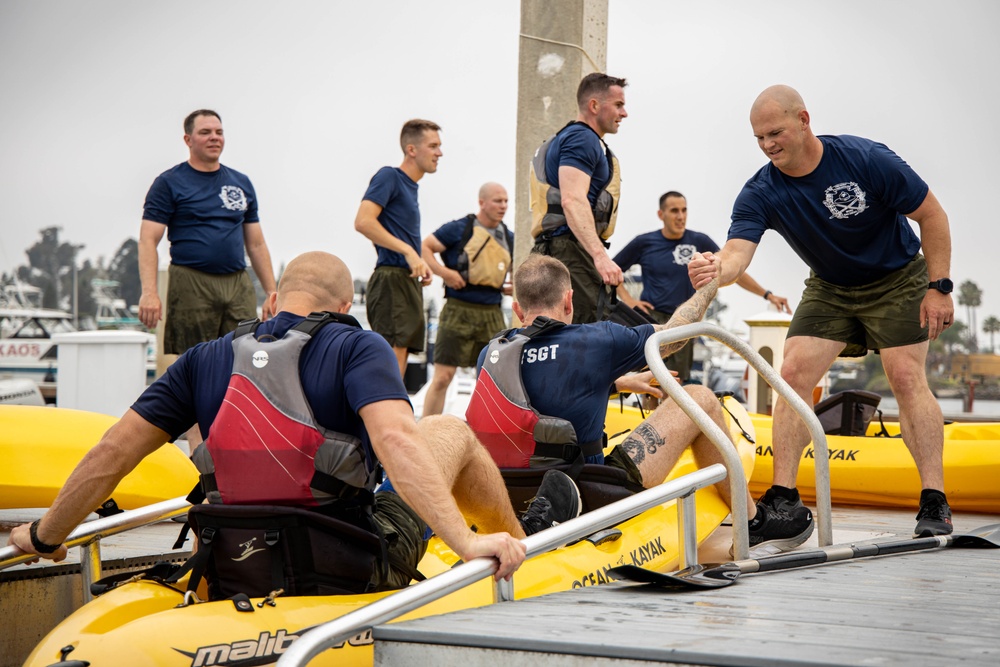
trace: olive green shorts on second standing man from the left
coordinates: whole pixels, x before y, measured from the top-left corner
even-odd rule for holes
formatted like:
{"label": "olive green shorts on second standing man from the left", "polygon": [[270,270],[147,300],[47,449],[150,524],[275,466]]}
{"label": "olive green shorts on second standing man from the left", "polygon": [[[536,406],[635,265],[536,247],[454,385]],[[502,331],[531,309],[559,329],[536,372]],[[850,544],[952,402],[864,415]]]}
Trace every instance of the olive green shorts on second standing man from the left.
{"label": "olive green shorts on second standing man from the left", "polygon": [[424,294],[410,270],[379,266],[368,280],[368,324],[393,347],[424,349]]}

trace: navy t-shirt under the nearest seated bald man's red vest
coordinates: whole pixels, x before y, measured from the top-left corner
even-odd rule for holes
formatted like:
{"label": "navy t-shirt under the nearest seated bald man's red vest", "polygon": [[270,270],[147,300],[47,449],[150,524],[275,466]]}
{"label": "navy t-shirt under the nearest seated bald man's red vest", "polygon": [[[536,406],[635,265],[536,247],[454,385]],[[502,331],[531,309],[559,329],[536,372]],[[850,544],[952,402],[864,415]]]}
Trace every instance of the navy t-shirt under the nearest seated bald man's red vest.
{"label": "navy t-shirt under the nearest seated bald man's red vest", "polygon": [[[257,338],[264,334],[281,338],[302,319],[278,313],[260,325]],[[229,386],[232,342],[229,333],[189,349],[142,393],[132,409],[172,438],[195,423],[207,437]],[[371,443],[358,411],[378,401],[409,401],[396,356],[385,339],[345,324],[327,324],[313,336],[299,359],[299,377],[316,422],[360,438],[368,452]]]}

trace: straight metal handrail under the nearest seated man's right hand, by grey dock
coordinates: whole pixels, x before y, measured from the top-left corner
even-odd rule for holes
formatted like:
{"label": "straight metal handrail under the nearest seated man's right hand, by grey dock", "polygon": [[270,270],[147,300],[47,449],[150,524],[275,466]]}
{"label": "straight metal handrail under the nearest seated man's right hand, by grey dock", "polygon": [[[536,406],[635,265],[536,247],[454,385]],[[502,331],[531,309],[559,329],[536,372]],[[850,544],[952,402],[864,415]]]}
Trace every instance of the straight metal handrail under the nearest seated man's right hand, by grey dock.
{"label": "straight metal handrail under the nearest seated man's right hand, by grey dock", "polygon": [[[716,463],[610,505],[591,510],[566,523],[526,537],[522,541],[527,548],[527,556],[531,558],[581,539],[596,530],[621,523],[668,500],[691,496],[696,490],[720,482],[725,477],[725,466]],[[679,503],[678,512],[680,511]],[[685,526],[690,539],[695,539],[693,522],[685,522]],[[408,611],[492,576],[497,567],[497,561],[493,558],[476,558],[317,626],[300,636],[285,651],[278,660],[277,667],[303,667],[326,649],[348,640],[367,628],[387,623]]]}

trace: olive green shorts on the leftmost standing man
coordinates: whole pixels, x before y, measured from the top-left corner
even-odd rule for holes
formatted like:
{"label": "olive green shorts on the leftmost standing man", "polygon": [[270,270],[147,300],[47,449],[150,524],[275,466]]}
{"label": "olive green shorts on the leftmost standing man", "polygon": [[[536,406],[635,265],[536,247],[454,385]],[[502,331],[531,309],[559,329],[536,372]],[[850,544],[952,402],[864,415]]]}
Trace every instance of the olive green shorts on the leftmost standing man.
{"label": "olive green shorts on the leftmost standing man", "polygon": [[214,274],[171,264],[163,352],[182,354],[257,317],[257,295],[246,271]]}

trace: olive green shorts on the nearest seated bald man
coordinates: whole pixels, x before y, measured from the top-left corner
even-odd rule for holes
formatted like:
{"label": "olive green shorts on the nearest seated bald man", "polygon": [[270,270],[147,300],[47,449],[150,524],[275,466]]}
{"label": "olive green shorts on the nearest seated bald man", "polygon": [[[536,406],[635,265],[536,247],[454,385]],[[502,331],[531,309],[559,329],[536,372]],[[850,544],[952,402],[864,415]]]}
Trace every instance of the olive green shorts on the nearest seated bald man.
{"label": "olive green shorts on the nearest seated bald man", "polygon": [[407,563],[415,570],[427,551],[427,524],[394,492],[375,494],[375,522],[385,535],[389,551],[389,571],[383,577],[381,562],[375,574],[375,590],[403,588],[410,575],[392,567],[392,562]]}

